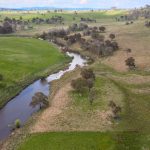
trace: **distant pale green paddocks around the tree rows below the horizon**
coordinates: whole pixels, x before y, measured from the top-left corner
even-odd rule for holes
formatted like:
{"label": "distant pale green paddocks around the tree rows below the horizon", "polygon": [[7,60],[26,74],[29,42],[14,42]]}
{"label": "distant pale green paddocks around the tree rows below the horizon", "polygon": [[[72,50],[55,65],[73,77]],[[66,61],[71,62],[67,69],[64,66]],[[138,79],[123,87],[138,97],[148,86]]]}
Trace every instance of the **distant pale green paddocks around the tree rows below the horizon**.
{"label": "distant pale green paddocks around the tree rows below the horizon", "polygon": [[[109,10],[109,11],[78,11],[78,14],[75,15],[74,11],[63,11],[62,13],[58,12],[47,12],[47,11],[30,11],[30,12],[22,12],[22,11],[2,11],[0,12],[0,20],[3,20],[5,17],[16,18],[19,19],[22,16],[23,20],[32,20],[34,17],[39,18],[51,18],[53,16],[62,16],[64,18],[64,25],[62,24],[32,24],[33,29],[21,30],[17,33],[13,33],[11,35],[26,35],[33,36],[36,33],[47,32],[50,29],[56,28],[66,28],[68,25],[73,23],[80,23],[80,19],[83,18],[92,18],[96,19],[97,23],[88,23],[91,26],[99,26],[105,23],[112,23],[115,21],[115,17],[123,15],[127,13],[125,10]],[[43,15],[44,14],[44,15]],[[73,19],[75,18],[75,20]]]}

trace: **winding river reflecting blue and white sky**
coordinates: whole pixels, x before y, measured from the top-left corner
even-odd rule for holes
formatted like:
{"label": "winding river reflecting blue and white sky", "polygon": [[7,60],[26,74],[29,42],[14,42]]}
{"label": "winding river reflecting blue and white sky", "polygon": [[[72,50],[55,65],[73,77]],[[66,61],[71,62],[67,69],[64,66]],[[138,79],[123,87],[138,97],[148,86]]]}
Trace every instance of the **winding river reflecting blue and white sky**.
{"label": "winding river reflecting blue and white sky", "polygon": [[46,78],[46,82],[42,82],[41,80],[35,81],[0,110],[0,140],[7,138],[11,134],[9,125],[13,124],[16,119],[20,119],[21,123],[25,124],[30,116],[38,111],[39,107],[33,108],[30,106],[30,102],[35,93],[42,92],[48,96],[52,81],[60,79],[66,72],[74,70],[77,65],[81,67],[85,65],[86,60],[80,55],[70,52],[66,54],[73,57],[68,69],[64,71],[60,70],[58,73],[49,75]]}

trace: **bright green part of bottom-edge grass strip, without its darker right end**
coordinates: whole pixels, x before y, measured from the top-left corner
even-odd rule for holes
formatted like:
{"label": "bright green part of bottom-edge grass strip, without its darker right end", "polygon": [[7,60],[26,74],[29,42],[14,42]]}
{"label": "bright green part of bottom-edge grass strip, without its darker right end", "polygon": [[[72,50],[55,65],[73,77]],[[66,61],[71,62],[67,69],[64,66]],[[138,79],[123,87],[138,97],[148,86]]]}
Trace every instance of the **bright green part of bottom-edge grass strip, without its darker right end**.
{"label": "bright green part of bottom-edge grass strip, without its darker right end", "polygon": [[94,132],[34,134],[18,150],[113,150],[112,139],[109,133]]}

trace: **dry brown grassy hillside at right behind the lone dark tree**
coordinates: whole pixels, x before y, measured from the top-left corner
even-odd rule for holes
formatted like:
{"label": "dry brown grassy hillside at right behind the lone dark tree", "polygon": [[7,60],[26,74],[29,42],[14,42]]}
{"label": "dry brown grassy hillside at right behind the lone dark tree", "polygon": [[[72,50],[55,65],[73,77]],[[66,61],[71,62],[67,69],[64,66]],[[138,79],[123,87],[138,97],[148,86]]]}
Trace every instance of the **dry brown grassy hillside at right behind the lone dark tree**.
{"label": "dry brown grassy hillside at right behind the lone dark tree", "polygon": [[[103,62],[118,71],[127,71],[125,60],[132,56],[136,60],[136,65],[140,69],[150,69],[150,30],[144,26],[144,21],[137,21],[133,25],[125,25],[124,23],[115,23],[107,25],[107,34],[115,33],[116,40],[119,43],[121,51]],[[127,54],[124,50],[132,49],[131,54]]]}

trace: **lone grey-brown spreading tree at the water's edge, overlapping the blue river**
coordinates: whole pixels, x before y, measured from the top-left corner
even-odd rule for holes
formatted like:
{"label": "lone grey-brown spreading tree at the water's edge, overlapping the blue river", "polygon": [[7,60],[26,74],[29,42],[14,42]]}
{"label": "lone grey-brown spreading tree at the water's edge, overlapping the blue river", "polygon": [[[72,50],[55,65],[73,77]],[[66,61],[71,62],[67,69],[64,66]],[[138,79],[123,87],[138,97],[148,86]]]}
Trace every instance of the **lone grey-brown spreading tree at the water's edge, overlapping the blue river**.
{"label": "lone grey-brown spreading tree at the water's edge, overlapping the blue river", "polygon": [[32,97],[32,102],[30,103],[32,107],[40,106],[40,109],[46,108],[49,105],[48,97],[41,92],[36,93]]}

